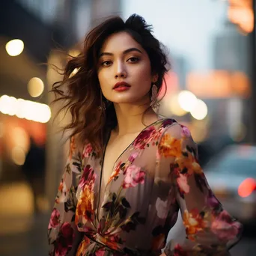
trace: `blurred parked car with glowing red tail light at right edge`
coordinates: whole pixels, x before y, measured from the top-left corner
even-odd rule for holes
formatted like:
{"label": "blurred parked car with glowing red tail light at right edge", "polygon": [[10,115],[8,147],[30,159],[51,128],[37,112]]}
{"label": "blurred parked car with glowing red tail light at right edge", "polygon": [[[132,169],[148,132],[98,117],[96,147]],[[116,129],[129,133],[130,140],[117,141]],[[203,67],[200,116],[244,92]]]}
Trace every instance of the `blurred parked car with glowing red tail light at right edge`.
{"label": "blurred parked car with glowing red tail light at right edge", "polygon": [[204,172],[223,207],[244,224],[255,224],[256,147],[225,147],[204,167]]}

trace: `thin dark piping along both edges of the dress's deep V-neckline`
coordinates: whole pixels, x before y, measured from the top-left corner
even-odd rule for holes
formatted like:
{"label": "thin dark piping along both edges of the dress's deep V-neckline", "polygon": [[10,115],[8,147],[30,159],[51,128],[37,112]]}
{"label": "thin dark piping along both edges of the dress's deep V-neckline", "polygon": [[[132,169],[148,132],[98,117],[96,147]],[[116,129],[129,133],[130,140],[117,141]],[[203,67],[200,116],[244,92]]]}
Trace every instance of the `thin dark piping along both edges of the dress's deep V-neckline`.
{"label": "thin dark piping along both edges of the dress's deep V-neckline", "polygon": [[[111,171],[111,174],[112,172],[115,170],[115,165],[116,163],[118,162],[118,160],[121,158],[121,156],[123,156],[124,152],[127,151],[127,149],[134,143],[134,141],[138,138],[139,135],[141,135],[142,132],[144,132],[145,129],[149,128],[149,127],[152,127],[153,125],[156,125],[158,122],[160,121],[164,121],[166,118],[161,118],[159,120],[156,120],[154,121],[152,124],[149,124],[147,127],[144,127],[144,129],[141,129],[141,131],[138,133],[138,135],[132,140],[132,142],[123,150],[123,152],[118,156],[118,158],[115,160],[114,162],[114,165],[112,167],[112,171]],[[108,146],[109,144],[109,139],[110,139],[110,136],[111,136],[111,130],[109,131],[109,134],[107,136],[107,139],[106,139],[106,144],[104,146],[104,151],[103,151],[103,156],[102,156],[102,160],[100,161],[101,164],[100,164],[100,186],[99,186],[99,194],[98,194],[98,201],[97,201],[97,219],[98,219],[98,222],[100,222],[99,220],[99,214],[100,214],[100,196],[101,196],[101,185],[102,185],[102,180],[103,180],[103,167],[104,167],[104,160],[105,160],[105,153],[106,153],[106,147]],[[107,183],[108,184],[108,183]],[[103,189],[104,190],[104,193],[106,192],[106,187],[107,187],[107,184],[105,186],[105,188]],[[104,200],[104,199],[103,199]],[[103,203],[103,202],[101,202]]]}

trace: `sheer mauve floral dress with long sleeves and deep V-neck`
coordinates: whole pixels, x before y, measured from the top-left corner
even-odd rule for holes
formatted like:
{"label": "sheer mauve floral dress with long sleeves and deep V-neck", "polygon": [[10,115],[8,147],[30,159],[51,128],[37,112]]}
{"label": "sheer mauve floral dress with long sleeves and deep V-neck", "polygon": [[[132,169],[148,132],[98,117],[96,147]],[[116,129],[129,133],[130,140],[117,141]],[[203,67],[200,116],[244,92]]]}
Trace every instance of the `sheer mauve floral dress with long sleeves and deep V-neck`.
{"label": "sheer mauve floral dress with long sleeves and deep V-neck", "polygon": [[[241,223],[213,195],[189,129],[176,121],[143,129],[116,160],[105,191],[102,163],[91,144],[79,152],[71,139],[49,221],[49,255],[228,255],[239,240]],[[179,210],[186,237],[166,244]]]}

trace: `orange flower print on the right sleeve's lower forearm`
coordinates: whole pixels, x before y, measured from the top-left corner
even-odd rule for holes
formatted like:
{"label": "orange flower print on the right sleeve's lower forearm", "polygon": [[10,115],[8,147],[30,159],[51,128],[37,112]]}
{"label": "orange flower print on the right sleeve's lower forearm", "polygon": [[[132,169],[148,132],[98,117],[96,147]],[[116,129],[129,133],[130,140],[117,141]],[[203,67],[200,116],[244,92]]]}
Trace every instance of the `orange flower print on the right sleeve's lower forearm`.
{"label": "orange flower print on the right sleeve's lower forearm", "polygon": [[[205,228],[204,219],[198,213],[198,210],[192,210],[191,212],[184,210],[183,224],[188,237],[197,234],[198,231],[202,231]],[[189,237],[189,239],[192,239],[192,237]]]}

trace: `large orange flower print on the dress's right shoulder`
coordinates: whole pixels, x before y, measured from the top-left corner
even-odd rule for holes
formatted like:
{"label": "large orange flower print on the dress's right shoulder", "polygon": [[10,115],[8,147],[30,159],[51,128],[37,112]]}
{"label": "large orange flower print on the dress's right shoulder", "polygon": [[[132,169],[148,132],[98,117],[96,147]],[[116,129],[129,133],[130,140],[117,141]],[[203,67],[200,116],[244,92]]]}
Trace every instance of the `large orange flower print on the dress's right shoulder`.
{"label": "large orange flower print on the dress's right shoulder", "polygon": [[171,137],[168,134],[163,135],[159,144],[159,154],[164,157],[181,156],[180,139]]}

